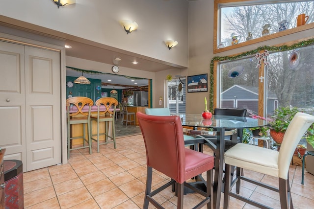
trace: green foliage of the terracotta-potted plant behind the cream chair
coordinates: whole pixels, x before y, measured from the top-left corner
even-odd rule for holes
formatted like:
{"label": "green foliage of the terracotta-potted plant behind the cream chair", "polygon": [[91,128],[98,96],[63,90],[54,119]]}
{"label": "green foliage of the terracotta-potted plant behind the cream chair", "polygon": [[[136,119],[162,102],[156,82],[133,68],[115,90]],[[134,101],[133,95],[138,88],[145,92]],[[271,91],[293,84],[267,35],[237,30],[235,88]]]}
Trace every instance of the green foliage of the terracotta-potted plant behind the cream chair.
{"label": "green foliage of the terracotta-potted plant behind the cream chair", "polygon": [[286,132],[289,123],[298,112],[297,107],[280,107],[274,111],[273,121],[269,122],[270,129],[276,132]]}

